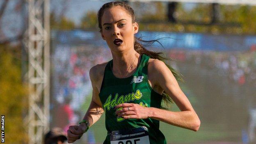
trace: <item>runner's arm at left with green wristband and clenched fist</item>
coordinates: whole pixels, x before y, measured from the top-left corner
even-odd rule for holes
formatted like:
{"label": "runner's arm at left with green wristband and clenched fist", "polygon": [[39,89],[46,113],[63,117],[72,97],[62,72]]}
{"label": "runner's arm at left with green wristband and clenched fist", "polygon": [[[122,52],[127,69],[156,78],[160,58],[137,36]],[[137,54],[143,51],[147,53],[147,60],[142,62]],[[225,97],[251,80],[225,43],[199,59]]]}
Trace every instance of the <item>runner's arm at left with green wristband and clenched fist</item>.
{"label": "runner's arm at left with green wristband and clenched fist", "polygon": [[[103,114],[104,110],[102,108],[101,100],[99,98],[99,90],[97,87],[97,83],[99,80],[99,74],[97,74],[96,66],[92,67],[89,71],[91,85],[92,85],[92,98],[91,104],[85,114],[85,119],[89,127],[91,127],[98,119],[100,119],[101,115]],[[69,126],[69,130],[67,131],[68,136],[68,143],[75,142],[77,139],[80,139],[83,132],[87,129],[85,123],[81,123],[79,126]]]}

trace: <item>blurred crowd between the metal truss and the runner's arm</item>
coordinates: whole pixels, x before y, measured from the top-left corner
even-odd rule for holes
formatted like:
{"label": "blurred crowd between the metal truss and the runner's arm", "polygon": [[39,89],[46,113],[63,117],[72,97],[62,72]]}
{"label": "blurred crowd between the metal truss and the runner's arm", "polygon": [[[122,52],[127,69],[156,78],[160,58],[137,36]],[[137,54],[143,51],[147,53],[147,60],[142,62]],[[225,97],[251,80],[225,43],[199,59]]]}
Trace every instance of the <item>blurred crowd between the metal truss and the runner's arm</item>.
{"label": "blurred crowd between the metal truss and the runner's arm", "polygon": [[[91,96],[89,70],[110,58],[111,53],[106,48],[85,45],[55,48],[52,55],[52,126],[66,131],[69,126],[78,124],[85,114],[82,106],[87,96]],[[87,133],[87,143],[94,144],[94,134],[90,130]]]}

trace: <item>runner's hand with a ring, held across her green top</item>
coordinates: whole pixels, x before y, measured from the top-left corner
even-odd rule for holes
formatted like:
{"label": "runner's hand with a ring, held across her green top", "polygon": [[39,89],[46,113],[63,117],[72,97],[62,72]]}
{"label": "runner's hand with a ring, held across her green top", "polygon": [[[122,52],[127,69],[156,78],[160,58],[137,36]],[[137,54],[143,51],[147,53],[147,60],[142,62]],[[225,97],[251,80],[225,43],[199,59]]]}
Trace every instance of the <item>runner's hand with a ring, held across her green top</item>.
{"label": "runner's hand with a ring, held across her green top", "polygon": [[135,103],[122,103],[117,105],[115,109],[123,107],[121,110],[117,110],[115,114],[117,117],[123,117],[123,119],[148,119],[149,107],[142,107]]}

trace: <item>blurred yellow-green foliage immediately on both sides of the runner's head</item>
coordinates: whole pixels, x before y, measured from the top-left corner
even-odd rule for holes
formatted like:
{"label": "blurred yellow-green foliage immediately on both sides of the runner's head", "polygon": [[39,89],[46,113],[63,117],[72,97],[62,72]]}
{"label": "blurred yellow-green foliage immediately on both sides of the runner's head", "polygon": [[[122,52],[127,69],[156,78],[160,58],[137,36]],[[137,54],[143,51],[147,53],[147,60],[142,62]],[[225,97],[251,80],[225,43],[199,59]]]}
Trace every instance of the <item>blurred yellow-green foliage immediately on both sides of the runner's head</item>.
{"label": "blurred yellow-green foliage immediately on both sides of the runner's head", "polygon": [[[256,6],[219,5],[219,20],[209,25],[212,9],[210,4],[196,4],[192,9],[186,9],[184,3],[178,3],[174,14],[177,23],[168,22],[167,2],[131,2],[130,5],[135,10],[139,30],[256,34]],[[190,23],[191,21],[195,23]],[[90,11],[82,18],[80,27],[95,29],[97,22],[96,11]],[[233,23],[237,25],[232,25]]]}

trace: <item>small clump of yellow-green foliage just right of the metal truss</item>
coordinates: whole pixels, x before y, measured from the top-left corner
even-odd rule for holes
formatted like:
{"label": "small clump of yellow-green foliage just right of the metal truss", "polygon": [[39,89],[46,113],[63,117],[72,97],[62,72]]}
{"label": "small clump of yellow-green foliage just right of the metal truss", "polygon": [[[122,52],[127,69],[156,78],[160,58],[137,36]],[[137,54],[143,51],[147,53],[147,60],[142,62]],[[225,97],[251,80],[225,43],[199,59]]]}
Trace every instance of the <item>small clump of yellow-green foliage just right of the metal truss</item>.
{"label": "small clump of yellow-green foliage just right of the metal truss", "polygon": [[65,16],[57,18],[56,14],[53,12],[50,14],[50,27],[54,30],[72,30],[75,28],[75,23]]}

